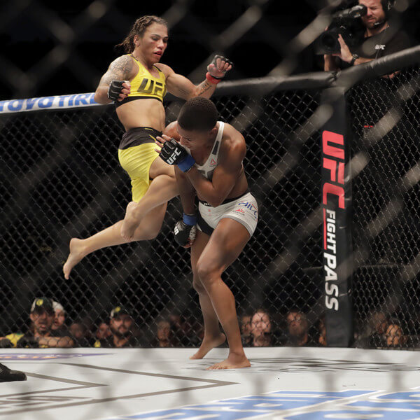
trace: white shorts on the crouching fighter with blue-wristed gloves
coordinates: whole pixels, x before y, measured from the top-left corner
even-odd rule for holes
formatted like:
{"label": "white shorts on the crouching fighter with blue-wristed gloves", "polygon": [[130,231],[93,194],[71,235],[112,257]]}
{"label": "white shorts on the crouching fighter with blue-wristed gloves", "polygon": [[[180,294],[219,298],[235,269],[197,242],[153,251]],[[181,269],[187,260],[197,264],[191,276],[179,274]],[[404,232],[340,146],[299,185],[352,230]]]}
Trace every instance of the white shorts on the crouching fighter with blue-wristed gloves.
{"label": "white shorts on the crouching fighter with blue-wristed gloves", "polygon": [[258,222],[258,204],[251,193],[225,200],[218,207],[211,207],[208,203],[200,201],[198,213],[197,227],[209,236],[223,218],[231,218],[241,223],[251,236]]}

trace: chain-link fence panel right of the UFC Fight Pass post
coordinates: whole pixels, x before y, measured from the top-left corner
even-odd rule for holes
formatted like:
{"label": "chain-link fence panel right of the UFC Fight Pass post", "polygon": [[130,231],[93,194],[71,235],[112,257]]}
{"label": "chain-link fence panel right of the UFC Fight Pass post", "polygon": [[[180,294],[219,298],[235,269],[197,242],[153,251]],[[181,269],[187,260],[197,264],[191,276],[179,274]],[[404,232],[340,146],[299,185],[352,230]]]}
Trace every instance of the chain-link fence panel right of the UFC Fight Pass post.
{"label": "chain-link fence panel right of the UFC Fight Pass post", "polygon": [[352,155],[365,160],[352,186],[360,346],[420,344],[419,89],[415,66],[348,93]]}

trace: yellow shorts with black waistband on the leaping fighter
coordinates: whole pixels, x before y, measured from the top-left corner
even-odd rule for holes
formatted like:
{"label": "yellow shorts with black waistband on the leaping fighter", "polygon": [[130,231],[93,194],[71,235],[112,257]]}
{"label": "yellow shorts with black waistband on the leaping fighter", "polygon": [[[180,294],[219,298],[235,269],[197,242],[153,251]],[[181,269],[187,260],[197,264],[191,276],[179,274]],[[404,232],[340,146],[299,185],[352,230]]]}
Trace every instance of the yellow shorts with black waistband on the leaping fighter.
{"label": "yellow shorts with black waistband on the leaping fighter", "polygon": [[151,185],[149,172],[153,161],[158,158],[155,138],[160,134],[148,127],[134,128],[124,134],[118,148],[120,165],[131,179],[134,202],[139,202]]}

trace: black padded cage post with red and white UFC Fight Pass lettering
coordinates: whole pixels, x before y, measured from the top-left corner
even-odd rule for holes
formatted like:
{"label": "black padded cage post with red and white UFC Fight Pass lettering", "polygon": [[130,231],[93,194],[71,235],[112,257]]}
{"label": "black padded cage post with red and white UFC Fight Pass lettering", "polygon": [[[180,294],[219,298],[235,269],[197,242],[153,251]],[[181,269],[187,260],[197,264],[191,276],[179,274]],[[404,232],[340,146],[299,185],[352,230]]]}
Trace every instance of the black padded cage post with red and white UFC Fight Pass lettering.
{"label": "black padded cage post with red and white UFC Fight Pass lettering", "polygon": [[328,346],[344,347],[353,339],[350,130],[344,91],[327,89],[321,102],[332,111],[321,131],[325,323]]}

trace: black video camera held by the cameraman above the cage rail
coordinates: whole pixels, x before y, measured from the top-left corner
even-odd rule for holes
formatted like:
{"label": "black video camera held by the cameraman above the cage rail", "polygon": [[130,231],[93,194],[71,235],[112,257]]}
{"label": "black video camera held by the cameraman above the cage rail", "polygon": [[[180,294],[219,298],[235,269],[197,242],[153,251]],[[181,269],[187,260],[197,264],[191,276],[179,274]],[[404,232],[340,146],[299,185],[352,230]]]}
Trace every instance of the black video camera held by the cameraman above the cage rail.
{"label": "black video camera held by the cameraman above the cage rail", "polygon": [[352,47],[360,41],[363,31],[360,19],[367,13],[366,6],[358,4],[351,8],[340,10],[332,15],[332,22],[315,41],[316,54],[337,54],[341,48],[338,42],[338,34],[341,34],[344,42]]}

